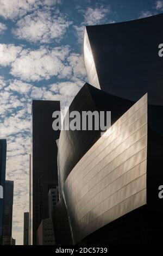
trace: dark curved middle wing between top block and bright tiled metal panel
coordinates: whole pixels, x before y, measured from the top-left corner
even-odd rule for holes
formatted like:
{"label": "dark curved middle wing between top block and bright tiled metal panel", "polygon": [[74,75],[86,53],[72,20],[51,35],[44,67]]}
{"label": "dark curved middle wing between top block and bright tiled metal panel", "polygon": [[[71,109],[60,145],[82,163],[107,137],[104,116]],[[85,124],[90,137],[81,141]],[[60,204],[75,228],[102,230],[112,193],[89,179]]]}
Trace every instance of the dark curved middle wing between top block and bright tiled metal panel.
{"label": "dark curved middle wing between top block and bright tiled metal panel", "polygon": [[[133,104],[132,101],[110,95],[86,83],[72,101],[69,112],[78,111],[82,114],[82,111],[111,111],[111,124],[114,124]],[[61,130],[58,142],[58,168],[61,187],[73,167],[100,136],[101,130],[95,129],[92,131]]]}

